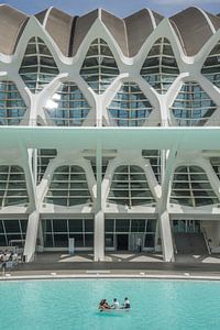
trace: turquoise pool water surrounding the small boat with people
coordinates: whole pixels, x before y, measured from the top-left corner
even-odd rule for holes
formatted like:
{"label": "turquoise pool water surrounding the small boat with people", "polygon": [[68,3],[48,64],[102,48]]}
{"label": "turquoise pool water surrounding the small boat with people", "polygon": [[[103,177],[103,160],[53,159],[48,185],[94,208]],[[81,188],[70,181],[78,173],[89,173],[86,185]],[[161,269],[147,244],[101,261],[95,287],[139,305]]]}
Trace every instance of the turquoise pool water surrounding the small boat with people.
{"label": "turquoise pool water surrounding the small boat with people", "polygon": [[[102,315],[128,296],[130,312]],[[220,329],[220,283],[147,279],[0,282],[0,329]]]}

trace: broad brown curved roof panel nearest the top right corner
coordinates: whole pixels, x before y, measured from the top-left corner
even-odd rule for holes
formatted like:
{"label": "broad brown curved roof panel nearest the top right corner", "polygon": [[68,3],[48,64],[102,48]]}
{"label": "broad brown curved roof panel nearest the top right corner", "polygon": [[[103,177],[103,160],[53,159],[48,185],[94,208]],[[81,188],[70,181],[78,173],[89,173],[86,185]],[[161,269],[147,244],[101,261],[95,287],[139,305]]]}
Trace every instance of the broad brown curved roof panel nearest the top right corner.
{"label": "broad brown curved roof panel nearest the top right corner", "polygon": [[196,55],[213,34],[206,14],[198,8],[187,8],[169,20],[188,56]]}

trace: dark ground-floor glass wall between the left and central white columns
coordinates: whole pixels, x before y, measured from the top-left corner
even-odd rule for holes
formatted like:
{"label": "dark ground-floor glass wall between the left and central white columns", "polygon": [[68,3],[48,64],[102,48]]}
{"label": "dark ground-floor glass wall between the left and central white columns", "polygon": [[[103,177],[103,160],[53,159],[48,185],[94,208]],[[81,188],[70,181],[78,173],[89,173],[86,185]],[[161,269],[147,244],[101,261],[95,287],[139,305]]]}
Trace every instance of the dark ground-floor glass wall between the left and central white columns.
{"label": "dark ground-floor glass wall between the left and central white columns", "polygon": [[42,220],[44,248],[68,249],[68,240],[75,239],[75,248],[94,248],[92,219]]}

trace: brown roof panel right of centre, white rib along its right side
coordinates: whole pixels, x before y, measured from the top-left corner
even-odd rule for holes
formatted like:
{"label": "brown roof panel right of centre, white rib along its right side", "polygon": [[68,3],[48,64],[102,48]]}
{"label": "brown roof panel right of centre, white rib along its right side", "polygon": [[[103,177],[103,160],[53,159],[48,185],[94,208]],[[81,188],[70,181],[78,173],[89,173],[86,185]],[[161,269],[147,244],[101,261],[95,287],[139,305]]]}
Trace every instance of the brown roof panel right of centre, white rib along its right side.
{"label": "brown roof panel right of centre, white rib along its right side", "polygon": [[141,46],[156,25],[163,20],[163,16],[148,9],[142,9],[131,16],[124,19],[127,25],[129,56],[139,53]]}

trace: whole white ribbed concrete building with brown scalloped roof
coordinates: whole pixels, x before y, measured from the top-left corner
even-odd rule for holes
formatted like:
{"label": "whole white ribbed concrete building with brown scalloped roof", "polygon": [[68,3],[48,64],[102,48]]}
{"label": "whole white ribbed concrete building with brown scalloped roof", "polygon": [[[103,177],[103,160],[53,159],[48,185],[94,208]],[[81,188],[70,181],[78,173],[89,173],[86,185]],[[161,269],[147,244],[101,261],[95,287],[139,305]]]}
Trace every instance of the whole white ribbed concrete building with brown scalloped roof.
{"label": "whole white ribbed concrete building with brown scalloped roof", "polygon": [[220,252],[219,29],[0,6],[0,249]]}

